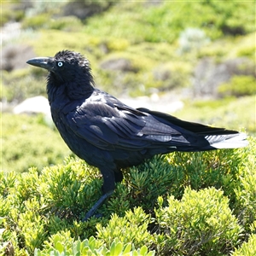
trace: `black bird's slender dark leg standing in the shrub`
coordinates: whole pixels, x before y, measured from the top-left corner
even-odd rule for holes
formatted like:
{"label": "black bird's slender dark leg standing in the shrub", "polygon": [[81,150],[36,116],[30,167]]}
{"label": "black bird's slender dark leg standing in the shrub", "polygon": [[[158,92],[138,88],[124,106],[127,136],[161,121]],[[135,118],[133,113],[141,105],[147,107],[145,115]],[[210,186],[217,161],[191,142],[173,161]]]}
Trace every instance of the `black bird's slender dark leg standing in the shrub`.
{"label": "black bird's slender dark leg standing in the shrub", "polygon": [[114,183],[115,175],[113,170],[105,167],[105,168],[101,168],[100,171],[102,172],[102,176],[103,176],[103,185],[102,185],[103,195],[98,201],[96,201],[96,204],[90,208],[90,211],[86,213],[85,217],[83,218],[83,221],[86,221],[90,217],[94,216],[97,209],[102,206],[104,201],[106,201],[110,195],[113,194],[113,190],[115,187],[115,183]]}

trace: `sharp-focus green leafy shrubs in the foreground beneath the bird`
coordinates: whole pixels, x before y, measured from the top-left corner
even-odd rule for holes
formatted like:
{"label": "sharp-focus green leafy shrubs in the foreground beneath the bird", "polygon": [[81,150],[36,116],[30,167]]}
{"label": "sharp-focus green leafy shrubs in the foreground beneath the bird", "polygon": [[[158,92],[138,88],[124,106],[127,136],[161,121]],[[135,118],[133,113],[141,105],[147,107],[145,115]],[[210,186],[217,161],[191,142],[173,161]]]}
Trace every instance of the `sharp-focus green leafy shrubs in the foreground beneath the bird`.
{"label": "sharp-focus green leafy shrubs in the foreground beneath the bird", "polygon": [[255,253],[256,140],[249,141],[236,150],[157,156],[126,170],[102,218],[86,222],[102,179],[83,160],[1,172],[0,248],[11,245],[17,255]]}

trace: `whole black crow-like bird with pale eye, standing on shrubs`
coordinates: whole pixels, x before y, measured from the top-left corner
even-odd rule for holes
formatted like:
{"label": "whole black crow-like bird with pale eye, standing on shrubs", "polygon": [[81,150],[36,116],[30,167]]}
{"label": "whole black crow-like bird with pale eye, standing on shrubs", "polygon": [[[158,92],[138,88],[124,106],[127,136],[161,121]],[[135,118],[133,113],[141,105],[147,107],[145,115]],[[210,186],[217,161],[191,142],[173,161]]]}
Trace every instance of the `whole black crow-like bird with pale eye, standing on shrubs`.
{"label": "whole black crow-like bird with pale eye, standing on shrubs", "polygon": [[90,63],[77,52],[62,50],[54,57],[26,63],[49,71],[49,105],[61,137],[74,154],[102,172],[103,195],[85,219],[113,193],[115,183],[123,178],[122,168],[137,166],[154,154],[247,145],[246,135],[238,131],[191,123],[119,102],[95,88]]}

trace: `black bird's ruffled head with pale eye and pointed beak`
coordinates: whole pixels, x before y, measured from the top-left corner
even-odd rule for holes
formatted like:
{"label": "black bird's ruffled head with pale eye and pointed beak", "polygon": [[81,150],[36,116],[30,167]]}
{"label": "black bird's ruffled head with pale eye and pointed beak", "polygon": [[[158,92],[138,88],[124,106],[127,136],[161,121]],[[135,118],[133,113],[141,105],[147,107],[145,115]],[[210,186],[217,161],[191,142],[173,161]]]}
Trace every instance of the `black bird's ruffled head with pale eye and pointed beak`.
{"label": "black bird's ruffled head with pale eye and pointed beak", "polygon": [[93,84],[90,62],[78,52],[61,50],[54,57],[33,58],[26,63],[48,70],[55,84]]}

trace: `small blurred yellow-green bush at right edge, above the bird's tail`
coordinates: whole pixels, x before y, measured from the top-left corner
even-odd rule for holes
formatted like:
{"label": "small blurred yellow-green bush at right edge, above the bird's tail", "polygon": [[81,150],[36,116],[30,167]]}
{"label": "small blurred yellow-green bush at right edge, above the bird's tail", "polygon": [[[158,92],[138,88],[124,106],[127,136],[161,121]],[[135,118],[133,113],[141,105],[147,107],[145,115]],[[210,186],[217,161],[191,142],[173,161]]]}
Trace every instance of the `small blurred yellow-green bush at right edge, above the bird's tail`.
{"label": "small blurred yellow-green bush at right edge, above the bird's tail", "polygon": [[233,76],[228,83],[218,86],[221,96],[248,96],[256,94],[256,79],[253,76]]}

